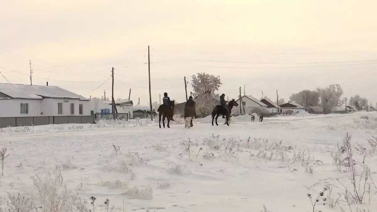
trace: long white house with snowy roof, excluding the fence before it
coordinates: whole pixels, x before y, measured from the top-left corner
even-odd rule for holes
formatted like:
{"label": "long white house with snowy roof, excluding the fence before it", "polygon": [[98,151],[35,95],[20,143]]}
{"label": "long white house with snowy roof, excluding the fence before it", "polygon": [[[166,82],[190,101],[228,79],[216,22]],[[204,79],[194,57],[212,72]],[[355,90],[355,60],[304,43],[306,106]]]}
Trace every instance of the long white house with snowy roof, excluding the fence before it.
{"label": "long white house with snowy roof, excluding the fence before it", "polygon": [[89,99],[57,86],[0,83],[0,117],[90,116]]}

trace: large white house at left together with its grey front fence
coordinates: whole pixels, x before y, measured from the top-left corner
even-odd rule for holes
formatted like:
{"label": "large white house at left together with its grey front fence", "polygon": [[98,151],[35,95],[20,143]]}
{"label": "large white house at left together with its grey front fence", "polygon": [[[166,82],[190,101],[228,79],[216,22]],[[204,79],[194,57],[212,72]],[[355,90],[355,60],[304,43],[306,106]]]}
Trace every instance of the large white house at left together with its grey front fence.
{"label": "large white house at left together with its grey front fence", "polygon": [[0,127],[93,123],[89,99],[57,86],[0,83]]}

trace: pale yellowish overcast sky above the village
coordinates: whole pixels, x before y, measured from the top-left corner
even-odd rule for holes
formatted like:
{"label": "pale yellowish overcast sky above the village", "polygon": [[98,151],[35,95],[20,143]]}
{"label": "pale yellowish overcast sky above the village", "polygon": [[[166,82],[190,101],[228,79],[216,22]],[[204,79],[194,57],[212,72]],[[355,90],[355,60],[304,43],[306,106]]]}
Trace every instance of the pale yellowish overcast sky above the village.
{"label": "pale yellowish overcast sky above the village", "polygon": [[[131,88],[147,105],[150,45],[152,101],[164,92],[185,101],[184,76],[207,72],[220,75],[229,98],[244,85],[247,95],[275,100],[278,90],[288,100],[337,83],[375,105],[375,8],[375,0],[2,0],[0,67],[16,72],[0,71],[29,84],[31,60],[33,84],[84,95],[114,67],[115,98]],[[104,90],[111,95],[111,80],[86,97]]]}

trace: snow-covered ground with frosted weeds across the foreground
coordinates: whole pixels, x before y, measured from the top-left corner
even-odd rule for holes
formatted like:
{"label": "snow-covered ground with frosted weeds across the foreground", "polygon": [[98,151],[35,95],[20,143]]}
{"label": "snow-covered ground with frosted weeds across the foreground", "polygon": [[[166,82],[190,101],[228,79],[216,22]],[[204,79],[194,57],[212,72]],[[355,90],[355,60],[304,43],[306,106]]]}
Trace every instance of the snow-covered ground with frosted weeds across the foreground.
{"label": "snow-covered ground with frosted weeds across the foreground", "polygon": [[[80,196],[69,199],[77,210],[61,211],[93,211],[90,197],[95,197],[95,211],[107,211],[104,202],[109,199],[108,211],[259,212],[265,205],[272,212],[312,212],[311,201],[328,186],[331,194],[325,190],[315,210],[376,210],[377,146],[371,146],[373,140],[368,143],[377,136],[376,112],[263,121],[256,117],[250,123],[244,115],[233,117],[230,126],[221,117],[219,126],[211,126],[206,117],[190,129],[179,118],[170,129],[146,119],[2,128],[0,148],[6,147],[9,157],[0,177],[0,208],[6,207],[7,193],[17,197],[20,192],[45,209],[44,196]],[[368,174],[362,204],[350,197],[355,196],[352,172],[346,171],[350,166],[340,162],[337,170],[331,156],[338,152],[338,142],[340,152],[346,149],[346,132],[352,135],[356,164],[351,169],[359,196]],[[339,155],[345,160],[346,152]]]}

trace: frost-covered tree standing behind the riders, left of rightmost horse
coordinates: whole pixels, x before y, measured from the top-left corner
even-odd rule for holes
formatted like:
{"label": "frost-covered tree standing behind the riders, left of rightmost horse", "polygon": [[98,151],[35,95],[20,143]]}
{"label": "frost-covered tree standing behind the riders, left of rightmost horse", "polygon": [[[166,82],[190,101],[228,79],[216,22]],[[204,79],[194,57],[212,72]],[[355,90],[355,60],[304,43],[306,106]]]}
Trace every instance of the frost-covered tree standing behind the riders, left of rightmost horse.
{"label": "frost-covered tree standing behind the riders, left of rightmost horse", "polygon": [[210,115],[213,108],[219,104],[219,95],[215,92],[219,91],[221,84],[220,76],[207,73],[192,75],[191,86],[198,116]]}

